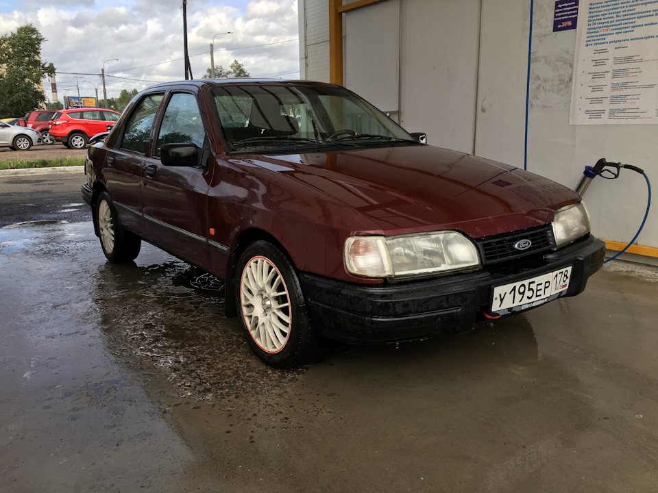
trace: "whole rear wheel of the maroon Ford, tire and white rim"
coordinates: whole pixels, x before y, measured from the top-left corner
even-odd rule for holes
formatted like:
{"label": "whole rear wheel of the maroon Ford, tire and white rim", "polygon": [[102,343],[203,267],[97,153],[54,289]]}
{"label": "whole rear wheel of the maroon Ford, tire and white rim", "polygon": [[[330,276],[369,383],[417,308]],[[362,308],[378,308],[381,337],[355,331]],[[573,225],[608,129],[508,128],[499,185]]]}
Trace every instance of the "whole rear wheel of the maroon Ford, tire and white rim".
{"label": "whole rear wheel of the maroon Ford, tire and white rim", "polygon": [[122,264],[137,258],[142,240],[121,226],[117,210],[107,192],[102,192],[96,202],[96,220],[101,248],[110,262]]}

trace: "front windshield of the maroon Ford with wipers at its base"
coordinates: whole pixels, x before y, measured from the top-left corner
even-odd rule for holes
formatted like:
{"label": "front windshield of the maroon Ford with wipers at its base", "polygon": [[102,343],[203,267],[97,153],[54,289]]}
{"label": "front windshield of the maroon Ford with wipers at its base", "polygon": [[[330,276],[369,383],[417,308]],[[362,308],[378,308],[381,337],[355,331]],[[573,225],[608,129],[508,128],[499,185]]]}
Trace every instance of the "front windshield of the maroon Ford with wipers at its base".
{"label": "front windshield of the maroon Ford with wipers at its base", "polygon": [[226,84],[213,94],[228,151],[418,144],[345,88]]}

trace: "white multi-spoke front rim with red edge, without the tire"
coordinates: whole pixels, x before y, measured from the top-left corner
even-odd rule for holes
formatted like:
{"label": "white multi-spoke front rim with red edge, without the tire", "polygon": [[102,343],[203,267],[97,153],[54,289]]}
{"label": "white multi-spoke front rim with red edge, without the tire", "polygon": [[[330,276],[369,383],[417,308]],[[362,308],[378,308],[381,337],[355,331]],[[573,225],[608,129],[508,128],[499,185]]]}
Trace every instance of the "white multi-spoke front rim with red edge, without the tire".
{"label": "white multi-spoke front rim with red edge, without the tire", "polygon": [[288,340],[292,316],[286,283],[276,266],[253,257],[240,281],[242,314],[249,334],[266,353],[278,353]]}

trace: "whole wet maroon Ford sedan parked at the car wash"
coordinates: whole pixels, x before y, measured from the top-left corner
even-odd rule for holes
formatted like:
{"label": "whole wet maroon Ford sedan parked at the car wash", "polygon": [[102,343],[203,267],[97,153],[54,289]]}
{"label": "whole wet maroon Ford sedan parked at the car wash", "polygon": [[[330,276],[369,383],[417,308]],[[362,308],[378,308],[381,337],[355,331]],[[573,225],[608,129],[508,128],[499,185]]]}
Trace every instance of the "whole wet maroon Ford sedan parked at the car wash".
{"label": "whole wet maroon Ford sedan parked at the car wash", "polygon": [[225,279],[272,366],[583,291],[605,246],[578,194],[425,140],[331,84],[160,84],[89,147],[82,194],[110,262],[146,240]]}

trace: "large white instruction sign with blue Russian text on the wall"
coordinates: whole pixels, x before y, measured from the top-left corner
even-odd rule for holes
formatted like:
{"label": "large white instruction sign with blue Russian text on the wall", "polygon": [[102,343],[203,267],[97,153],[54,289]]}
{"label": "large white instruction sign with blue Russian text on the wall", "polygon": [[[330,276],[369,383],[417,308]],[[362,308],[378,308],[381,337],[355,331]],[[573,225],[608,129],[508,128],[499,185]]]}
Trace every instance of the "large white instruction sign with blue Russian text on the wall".
{"label": "large white instruction sign with blue Russian text on the wall", "polygon": [[572,125],[658,123],[658,0],[580,0]]}

